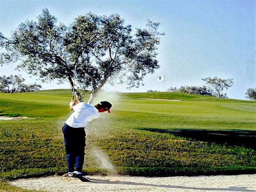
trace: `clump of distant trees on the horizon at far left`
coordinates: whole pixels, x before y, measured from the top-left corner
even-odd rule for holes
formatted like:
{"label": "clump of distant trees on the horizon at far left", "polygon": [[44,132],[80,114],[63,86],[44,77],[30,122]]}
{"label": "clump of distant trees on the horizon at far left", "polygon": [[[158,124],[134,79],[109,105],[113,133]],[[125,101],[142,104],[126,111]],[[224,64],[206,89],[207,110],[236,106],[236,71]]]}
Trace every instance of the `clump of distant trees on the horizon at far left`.
{"label": "clump of distant trees on the horizon at far left", "polygon": [[18,93],[38,91],[42,88],[40,84],[24,84],[25,79],[20,75],[0,76],[0,92]]}

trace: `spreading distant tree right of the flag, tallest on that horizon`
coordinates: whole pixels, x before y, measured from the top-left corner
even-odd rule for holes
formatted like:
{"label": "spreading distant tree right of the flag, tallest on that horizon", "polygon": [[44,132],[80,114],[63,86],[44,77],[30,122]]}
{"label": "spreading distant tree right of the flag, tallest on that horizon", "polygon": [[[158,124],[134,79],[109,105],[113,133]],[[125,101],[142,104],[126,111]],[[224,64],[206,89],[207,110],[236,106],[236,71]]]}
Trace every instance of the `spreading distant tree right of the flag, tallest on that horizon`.
{"label": "spreading distant tree right of the flag, tallest on that horizon", "polygon": [[226,93],[222,93],[224,89],[228,90],[229,87],[233,86],[233,79],[221,79],[219,77],[207,77],[203,78],[203,81],[214,91],[216,97],[228,98]]}

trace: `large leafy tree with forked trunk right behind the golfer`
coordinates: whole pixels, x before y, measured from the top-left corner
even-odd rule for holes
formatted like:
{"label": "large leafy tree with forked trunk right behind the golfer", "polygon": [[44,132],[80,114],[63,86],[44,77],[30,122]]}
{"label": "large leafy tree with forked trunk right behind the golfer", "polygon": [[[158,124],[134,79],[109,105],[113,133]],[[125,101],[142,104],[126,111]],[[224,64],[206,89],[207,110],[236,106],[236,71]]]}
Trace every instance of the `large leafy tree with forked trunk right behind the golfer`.
{"label": "large leafy tree with forked trunk right behind the golfer", "polygon": [[[68,80],[74,88],[74,71],[82,90],[91,90],[88,103],[106,83],[126,83],[128,88],[143,85],[146,74],[159,68],[156,60],[160,43],[160,23],[148,20],[146,28],[125,25],[118,14],[98,16],[89,12],[79,15],[66,26],[58,23],[48,9],[37,21],[21,23],[6,38],[0,33],[0,64],[21,60],[19,69],[39,76],[42,81]],[[82,101],[75,89],[76,98]]]}

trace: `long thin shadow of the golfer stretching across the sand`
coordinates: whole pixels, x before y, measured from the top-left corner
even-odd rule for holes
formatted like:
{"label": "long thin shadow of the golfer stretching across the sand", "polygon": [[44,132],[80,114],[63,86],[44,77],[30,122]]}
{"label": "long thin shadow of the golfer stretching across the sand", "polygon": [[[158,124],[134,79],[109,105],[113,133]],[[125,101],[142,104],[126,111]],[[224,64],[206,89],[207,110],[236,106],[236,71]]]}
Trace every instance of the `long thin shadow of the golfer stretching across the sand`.
{"label": "long thin shadow of the golfer stretching across the sand", "polygon": [[[187,186],[178,186],[178,185],[163,185],[163,184],[153,184],[153,183],[136,183],[129,181],[109,181],[101,179],[91,179],[92,183],[102,183],[102,184],[119,184],[119,185],[135,185],[135,186],[150,186],[150,187],[159,187],[159,188],[175,188],[175,189],[192,189],[192,190],[201,190],[201,191],[243,191],[243,192],[252,192],[255,190],[247,189],[247,187],[228,187],[228,188],[203,188],[203,187],[187,187]],[[181,181],[182,182],[182,181]],[[159,190],[160,191],[160,190]]]}

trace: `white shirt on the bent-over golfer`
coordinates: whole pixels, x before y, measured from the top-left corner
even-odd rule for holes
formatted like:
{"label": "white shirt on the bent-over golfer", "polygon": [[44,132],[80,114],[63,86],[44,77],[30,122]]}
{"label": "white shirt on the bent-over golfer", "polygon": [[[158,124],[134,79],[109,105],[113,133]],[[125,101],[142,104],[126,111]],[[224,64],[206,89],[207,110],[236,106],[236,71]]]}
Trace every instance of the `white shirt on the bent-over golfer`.
{"label": "white shirt on the bent-over golfer", "polygon": [[77,103],[73,106],[74,112],[65,122],[70,127],[85,127],[93,119],[100,117],[99,110],[94,105],[88,105],[84,102]]}

